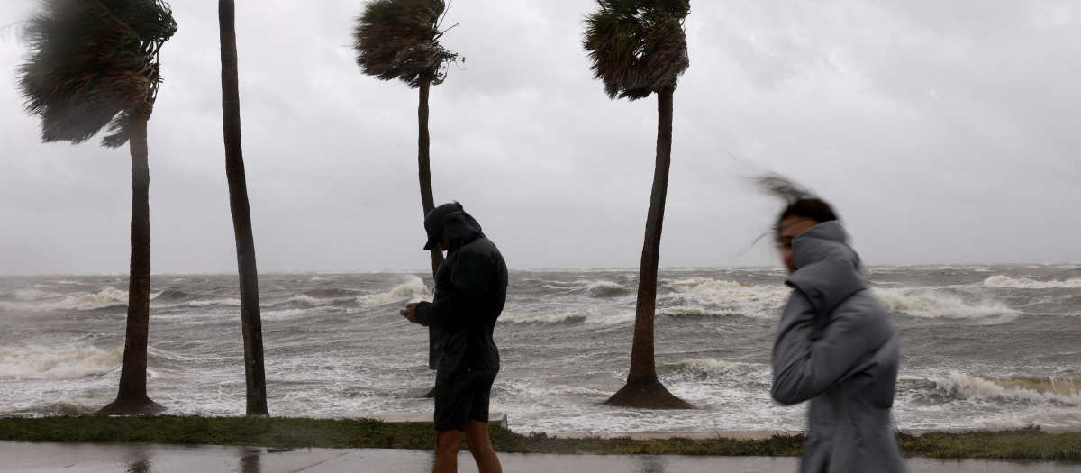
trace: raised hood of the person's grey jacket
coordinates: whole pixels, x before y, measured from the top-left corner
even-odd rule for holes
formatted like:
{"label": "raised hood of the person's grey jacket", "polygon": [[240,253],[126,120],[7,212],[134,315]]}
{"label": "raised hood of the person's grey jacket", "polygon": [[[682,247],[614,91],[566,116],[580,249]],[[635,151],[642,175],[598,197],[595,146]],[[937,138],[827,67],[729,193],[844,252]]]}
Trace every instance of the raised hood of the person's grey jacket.
{"label": "raised hood of the person's grey jacket", "polygon": [[837,220],[818,224],[792,239],[792,257],[799,269],[785,284],[806,295],[819,313],[829,313],[867,287],[857,272],[859,255],[846,240],[848,233]]}

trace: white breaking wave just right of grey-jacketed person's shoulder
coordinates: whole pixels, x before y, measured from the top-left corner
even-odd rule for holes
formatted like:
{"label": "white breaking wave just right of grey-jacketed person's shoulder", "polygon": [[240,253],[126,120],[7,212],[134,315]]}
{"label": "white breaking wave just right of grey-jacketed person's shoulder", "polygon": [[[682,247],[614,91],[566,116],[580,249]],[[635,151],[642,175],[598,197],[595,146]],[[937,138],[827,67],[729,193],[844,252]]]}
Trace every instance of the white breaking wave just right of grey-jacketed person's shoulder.
{"label": "white breaking wave just right of grey-jacketed person's shoulder", "polygon": [[875,297],[890,312],[926,319],[976,319],[1015,314],[1000,302],[969,305],[960,297],[943,293],[913,294],[909,289],[873,289]]}

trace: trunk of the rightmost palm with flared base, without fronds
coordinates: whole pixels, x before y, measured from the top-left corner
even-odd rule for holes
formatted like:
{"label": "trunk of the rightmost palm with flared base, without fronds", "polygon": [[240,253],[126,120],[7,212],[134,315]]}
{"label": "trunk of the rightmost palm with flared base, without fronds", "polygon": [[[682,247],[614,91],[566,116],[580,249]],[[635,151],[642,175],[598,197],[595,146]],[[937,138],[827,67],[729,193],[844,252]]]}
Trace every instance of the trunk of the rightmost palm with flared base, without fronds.
{"label": "trunk of the rightmost palm with flared base, without fronds", "polygon": [[693,408],[676,397],[657,380],[653,359],[653,320],[657,306],[657,263],[660,259],[660,229],[665,219],[668,195],[668,168],[672,152],[672,94],[675,85],[657,93],[657,153],[650,193],[650,213],[645,220],[645,241],[638,280],[638,303],[635,309],[635,341],[630,349],[630,373],[627,384],[604,404],[643,408]]}

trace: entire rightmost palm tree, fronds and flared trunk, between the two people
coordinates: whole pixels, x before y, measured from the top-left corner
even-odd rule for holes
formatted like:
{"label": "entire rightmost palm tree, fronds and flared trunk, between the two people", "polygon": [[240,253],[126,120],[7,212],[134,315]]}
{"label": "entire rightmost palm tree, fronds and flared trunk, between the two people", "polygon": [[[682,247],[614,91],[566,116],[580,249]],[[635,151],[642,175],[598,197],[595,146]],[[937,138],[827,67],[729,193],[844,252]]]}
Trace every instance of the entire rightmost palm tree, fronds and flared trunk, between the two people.
{"label": "entire rightmost palm tree, fronds and flared trunk, between the two people", "polygon": [[635,341],[627,384],[604,403],[644,408],[693,408],[657,380],[653,359],[653,319],[657,300],[660,227],[668,193],[672,149],[672,93],[690,66],[683,19],[690,0],[597,0],[600,9],[586,16],[583,45],[592,62],[593,78],[604,83],[609,98],[637,100],[657,94],[657,149],[645,220],[645,241],[635,310]]}

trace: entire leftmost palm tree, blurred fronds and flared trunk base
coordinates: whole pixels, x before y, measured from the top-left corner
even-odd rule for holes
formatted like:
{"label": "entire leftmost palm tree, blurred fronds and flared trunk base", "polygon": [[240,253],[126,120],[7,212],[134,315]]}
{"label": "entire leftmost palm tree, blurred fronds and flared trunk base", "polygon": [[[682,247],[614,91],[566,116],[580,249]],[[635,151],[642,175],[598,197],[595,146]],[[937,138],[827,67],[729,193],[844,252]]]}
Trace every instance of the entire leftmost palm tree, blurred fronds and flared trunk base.
{"label": "entire leftmost palm tree, blurred fronds and flared trunk base", "polygon": [[130,141],[131,276],[128,329],[117,398],[98,414],[163,408],[146,394],[150,316],[150,207],[146,124],[161,82],[162,44],[176,32],[161,0],[44,0],[26,24],[29,56],[18,68],[26,111],[41,118],[44,143],[83,143],[102,129],[102,145]]}

